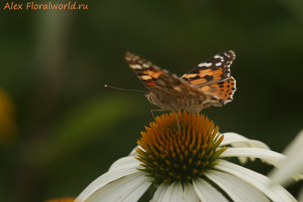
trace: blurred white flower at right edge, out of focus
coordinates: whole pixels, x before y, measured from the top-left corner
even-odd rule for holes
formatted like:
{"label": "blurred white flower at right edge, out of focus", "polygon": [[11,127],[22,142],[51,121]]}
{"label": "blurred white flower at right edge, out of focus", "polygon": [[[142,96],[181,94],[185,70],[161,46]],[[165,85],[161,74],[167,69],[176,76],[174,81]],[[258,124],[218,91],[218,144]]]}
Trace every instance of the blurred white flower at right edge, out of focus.
{"label": "blurred white flower at right edge, out of focus", "polygon": [[[287,159],[282,162],[283,166],[273,169],[268,176],[274,182],[287,186],[294,182],[289,176],[303,178],[303,130],[286,146],[282,154],[287,156]],[[297,178],[294,177],[295,180]],[[303,201],[303,187],[299,192],[298,201]]]}

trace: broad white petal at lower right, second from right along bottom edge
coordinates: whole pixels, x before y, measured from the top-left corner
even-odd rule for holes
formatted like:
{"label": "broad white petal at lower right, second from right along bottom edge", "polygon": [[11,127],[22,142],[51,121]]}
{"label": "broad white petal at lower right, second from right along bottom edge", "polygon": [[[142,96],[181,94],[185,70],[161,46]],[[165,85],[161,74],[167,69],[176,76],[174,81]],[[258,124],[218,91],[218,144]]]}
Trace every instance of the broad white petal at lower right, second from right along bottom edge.
{"label": "broad white petal at lower right, second from right along bottom edge", "polygon": [[234,202],[270,202],[261,191],[233,175],[207,170],[205,176],[223,189]]}

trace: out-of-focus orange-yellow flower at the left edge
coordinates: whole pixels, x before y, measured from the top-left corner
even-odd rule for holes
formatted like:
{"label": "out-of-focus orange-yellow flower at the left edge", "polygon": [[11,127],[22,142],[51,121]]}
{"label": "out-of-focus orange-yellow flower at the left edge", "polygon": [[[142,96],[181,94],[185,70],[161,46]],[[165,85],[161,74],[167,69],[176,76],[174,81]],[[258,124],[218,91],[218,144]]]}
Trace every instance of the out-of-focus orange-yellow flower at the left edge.
{"label": "out-of-focus orange-yellow flower at the left edge", "polygon": [[16,109],[11,96],[0,88],[0,144],[12,143],[16,139]]}

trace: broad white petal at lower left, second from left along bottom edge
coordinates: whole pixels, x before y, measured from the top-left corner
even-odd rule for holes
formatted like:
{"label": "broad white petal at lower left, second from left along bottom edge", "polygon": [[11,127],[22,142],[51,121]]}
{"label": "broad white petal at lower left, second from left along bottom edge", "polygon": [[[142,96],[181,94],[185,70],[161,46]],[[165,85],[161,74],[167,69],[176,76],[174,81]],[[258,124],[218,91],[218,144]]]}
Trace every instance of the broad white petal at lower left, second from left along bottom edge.
{"label": "broad white petal at lower left, second from left along bottom edge", "polygon": [[150,186],[151,178],[144,172],[137,172],[109,183],[96,190],[85,201],[89,202],[135,202]]}

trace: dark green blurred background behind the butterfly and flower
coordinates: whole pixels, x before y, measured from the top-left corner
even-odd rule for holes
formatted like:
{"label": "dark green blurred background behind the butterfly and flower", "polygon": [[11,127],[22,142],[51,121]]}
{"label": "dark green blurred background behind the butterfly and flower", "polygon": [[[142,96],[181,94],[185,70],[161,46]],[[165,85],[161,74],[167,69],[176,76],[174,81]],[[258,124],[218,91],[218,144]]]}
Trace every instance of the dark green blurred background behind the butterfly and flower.
{"label": "dark green blurred background behind the butterfly and flower", "polygon": [[[300,0],[76,2],[87,10],[15,3],[23,9],[0,12],[0,201],[77,196],[136,146],[150,103],[104,87],[146,90],[126,51],[181,76],[231,49],[234,100],[201,113],[221,132],[278,152],[303,128]],[[245,167],[271,169],[260,160]],[[296,196],[301,185],[288,190]]]}

